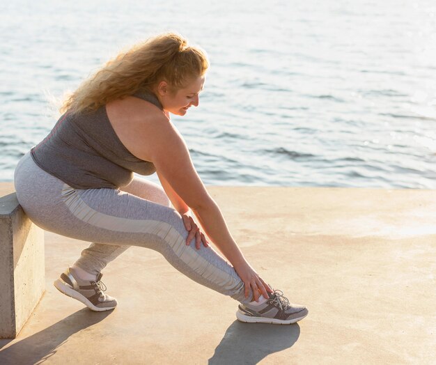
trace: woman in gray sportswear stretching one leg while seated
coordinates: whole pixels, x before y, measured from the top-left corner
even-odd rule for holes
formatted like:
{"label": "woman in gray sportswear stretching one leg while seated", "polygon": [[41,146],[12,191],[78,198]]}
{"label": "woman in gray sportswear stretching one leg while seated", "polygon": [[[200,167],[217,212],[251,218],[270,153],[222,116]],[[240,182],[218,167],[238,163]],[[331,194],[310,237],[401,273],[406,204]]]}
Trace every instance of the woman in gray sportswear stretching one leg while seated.
{"label": "woman in gray sportswear stretching one leg while seated", "polygon": [[[135,245],[238,300],[238,320],[295,323],[307,309],[249,265],[171,123],[170,113],[198,106],[207,69],[205,53],[175,33],[119,54],[65,100],[53,130],[22,157],[18,201],[41,228],[93,242],[54,282],[93,311],[115,308],[101,271]],[[133,176],[155,171],[163,189]],[[231,265],[209,246],[192,212]]]}

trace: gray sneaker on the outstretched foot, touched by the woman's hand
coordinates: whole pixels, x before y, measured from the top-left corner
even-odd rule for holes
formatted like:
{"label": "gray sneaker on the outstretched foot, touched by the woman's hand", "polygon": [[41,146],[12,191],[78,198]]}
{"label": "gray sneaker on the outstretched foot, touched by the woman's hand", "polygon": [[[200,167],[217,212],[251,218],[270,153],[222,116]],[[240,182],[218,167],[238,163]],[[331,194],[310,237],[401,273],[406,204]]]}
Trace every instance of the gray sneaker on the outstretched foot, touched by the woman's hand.
{"label": "gray sneaker on the outstretched foot, touched by the woman's hand", "polygon": [[270,299],[258,306],[240,304],[236,318],[247,323],[272,323],[274,325],[290,325],[307,316],[309,311],[305,306],[290,304],[281,290],[268,293]]}

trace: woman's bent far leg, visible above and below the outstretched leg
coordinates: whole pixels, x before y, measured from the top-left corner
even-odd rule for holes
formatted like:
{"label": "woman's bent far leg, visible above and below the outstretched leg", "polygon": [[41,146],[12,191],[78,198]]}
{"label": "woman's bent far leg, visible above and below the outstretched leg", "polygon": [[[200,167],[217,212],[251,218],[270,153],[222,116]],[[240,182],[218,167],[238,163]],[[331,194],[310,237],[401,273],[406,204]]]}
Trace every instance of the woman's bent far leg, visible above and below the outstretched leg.
{"label": "woman's bent far leg, visible above and below the outstretched leg", "polygon": [[[167,207],[171,204],[162,187],[143,178],[137,178],[136,176],[132,180],[132,183],[121,188],[121,190]],[[114,261],[128,248],[129,246],[127,245],[93,242],[89,247],[81,251],[80,258],[72,267],[76,270],[77,267],[79,267],[79,269],[91,274],[91,276],[97,276],[108,263]]]}

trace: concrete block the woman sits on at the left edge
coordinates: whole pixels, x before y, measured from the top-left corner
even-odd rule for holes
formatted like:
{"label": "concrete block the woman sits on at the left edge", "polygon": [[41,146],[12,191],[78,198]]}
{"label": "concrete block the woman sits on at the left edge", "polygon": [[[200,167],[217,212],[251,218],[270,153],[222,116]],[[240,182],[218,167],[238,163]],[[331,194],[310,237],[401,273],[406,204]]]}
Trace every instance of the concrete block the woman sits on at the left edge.
{"label": "concrete block the woman sits on at the left edge", "polygon": [[0,198],[0,338],[14,339],[45,290],[44,232],[15,193]]}

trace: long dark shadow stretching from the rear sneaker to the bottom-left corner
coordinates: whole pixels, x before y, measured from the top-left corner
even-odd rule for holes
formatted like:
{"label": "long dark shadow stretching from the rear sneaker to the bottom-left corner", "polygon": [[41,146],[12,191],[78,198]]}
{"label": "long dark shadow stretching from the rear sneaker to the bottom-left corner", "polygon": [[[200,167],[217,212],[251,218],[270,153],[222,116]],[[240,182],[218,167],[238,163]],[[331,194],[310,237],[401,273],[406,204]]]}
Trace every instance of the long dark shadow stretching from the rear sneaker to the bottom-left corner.
{"label": "long dark shadow stretching from the rear sneaker to the bottom-left corner", "polygon": [[56,349],[68,341],[72,334],[99,323],[111,312],[81,309],[58,323],[0,350],[0,364],[41,364],[54,355]]}

